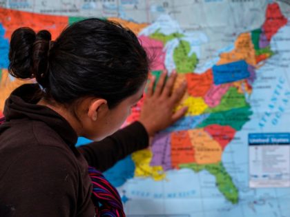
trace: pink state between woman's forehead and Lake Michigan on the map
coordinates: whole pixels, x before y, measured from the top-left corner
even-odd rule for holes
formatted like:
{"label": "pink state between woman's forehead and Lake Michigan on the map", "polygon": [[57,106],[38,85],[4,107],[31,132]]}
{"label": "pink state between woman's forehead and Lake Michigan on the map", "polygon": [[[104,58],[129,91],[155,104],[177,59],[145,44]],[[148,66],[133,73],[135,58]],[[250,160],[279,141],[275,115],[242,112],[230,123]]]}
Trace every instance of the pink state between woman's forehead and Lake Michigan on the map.
{"label": "pink state between woman's forehead and Lake Michigan on the map", "polygon": [[139,36],[138,39],[146,50],[149,59],[152,60],[151,70],[165,70],[165,52],[162,41],[149,39],[144,35]]}

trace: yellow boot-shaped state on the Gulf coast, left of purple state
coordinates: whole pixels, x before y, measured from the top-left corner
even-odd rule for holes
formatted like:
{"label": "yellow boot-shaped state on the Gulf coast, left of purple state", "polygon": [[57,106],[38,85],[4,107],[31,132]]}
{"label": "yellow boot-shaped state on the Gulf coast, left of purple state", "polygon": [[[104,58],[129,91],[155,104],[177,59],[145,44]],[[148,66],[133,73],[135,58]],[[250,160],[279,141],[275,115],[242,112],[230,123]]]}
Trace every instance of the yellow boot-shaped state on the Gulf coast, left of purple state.
{"label": "yellow boot-shaped state on the Gulf coast, left of purple state", "polygon": [[153,154],[150,149],[143,149],[132,154],[135,163],[135,177],[151,177],[154,180],[162,180],[165,173],[162,166],[151,166]]}

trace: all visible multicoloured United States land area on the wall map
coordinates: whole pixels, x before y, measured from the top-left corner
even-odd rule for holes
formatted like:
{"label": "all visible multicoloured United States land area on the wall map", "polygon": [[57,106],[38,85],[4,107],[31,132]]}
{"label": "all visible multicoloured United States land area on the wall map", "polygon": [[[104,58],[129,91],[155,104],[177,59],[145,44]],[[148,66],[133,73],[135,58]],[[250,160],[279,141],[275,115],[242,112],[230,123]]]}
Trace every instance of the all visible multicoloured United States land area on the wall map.
{"label": "all visible multicoloured United States land area on the wall map", "polygon": [[[13,30],[20,26],[29,26],[36,31],[46,29],[55,39],[66,25],[80,19],[83,18],[0,8],[0,111],[3,110],[4,100],[15,87],[31,82],[8,76],[8,49]],[[287,24],[278,3],[267,6],[265,20],[260,28],[239,34],[233,50],[222,52],[218,63],[202,73],[195,73],[199,59],[192,52],[184,34],[144,31],[151,27],[151,23],[135,23],[115,17],[107,19],[118,21],[138,35],[148,54],[155,57],[151,74],[158,78],[164,70],[168,70],[166,61],[170,59],[173,63],[171,72],[175,70],[178,74],[175,89],[184,80],[188,83],[188,90],[176,108],[188,106],[186,116],[157,134],[149,149],[130,156],[134,167],[127,168],[127,173],[122,174],[123,179],[118,185],[133,176],[151,177],[159,181],[166,178],[168,170],[188,168],[200,172],[205,169],[215,177],[216,187],[224,197],[233,204],[238,203],[238,188],[222,163],[222,154],[235,133],[250,120],[252,111],[246,96],[253,91],[256,70],[275,55],[270,41]],[[172,41],[177,46],[168,52],[168,44]],[[133,108],[133,114],[126,124],[137,120],[141,106],[142,101]]]}

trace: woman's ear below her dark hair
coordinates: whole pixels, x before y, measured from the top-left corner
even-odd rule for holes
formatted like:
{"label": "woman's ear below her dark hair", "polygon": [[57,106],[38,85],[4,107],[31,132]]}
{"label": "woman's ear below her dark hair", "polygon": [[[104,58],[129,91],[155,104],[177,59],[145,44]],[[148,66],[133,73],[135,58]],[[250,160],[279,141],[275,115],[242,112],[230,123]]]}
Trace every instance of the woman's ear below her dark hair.
{"label": "woman's ear below her dark hair", "polygon": [[97,121],[97,118],[108,110],[106,99],[93,99],[88,107],[88,116],[92,121]]}

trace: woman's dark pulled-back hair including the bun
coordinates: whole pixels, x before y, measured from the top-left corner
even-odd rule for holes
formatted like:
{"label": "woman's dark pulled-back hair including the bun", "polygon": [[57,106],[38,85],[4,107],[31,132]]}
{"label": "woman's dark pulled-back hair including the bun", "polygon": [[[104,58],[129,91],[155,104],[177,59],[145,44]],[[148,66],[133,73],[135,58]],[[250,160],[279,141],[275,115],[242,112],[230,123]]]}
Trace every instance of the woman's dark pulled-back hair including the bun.
{"label": "woman's dark pulled-back hair including the bun", "polygon": [[19,79],[35,78],[48,101],[71,105],[84,96],[97,96],[112,108],[137,92],[148,76],[145,50],[119,23],[86,19],[50,40],[47,30],[15,30],[8,68]]}

